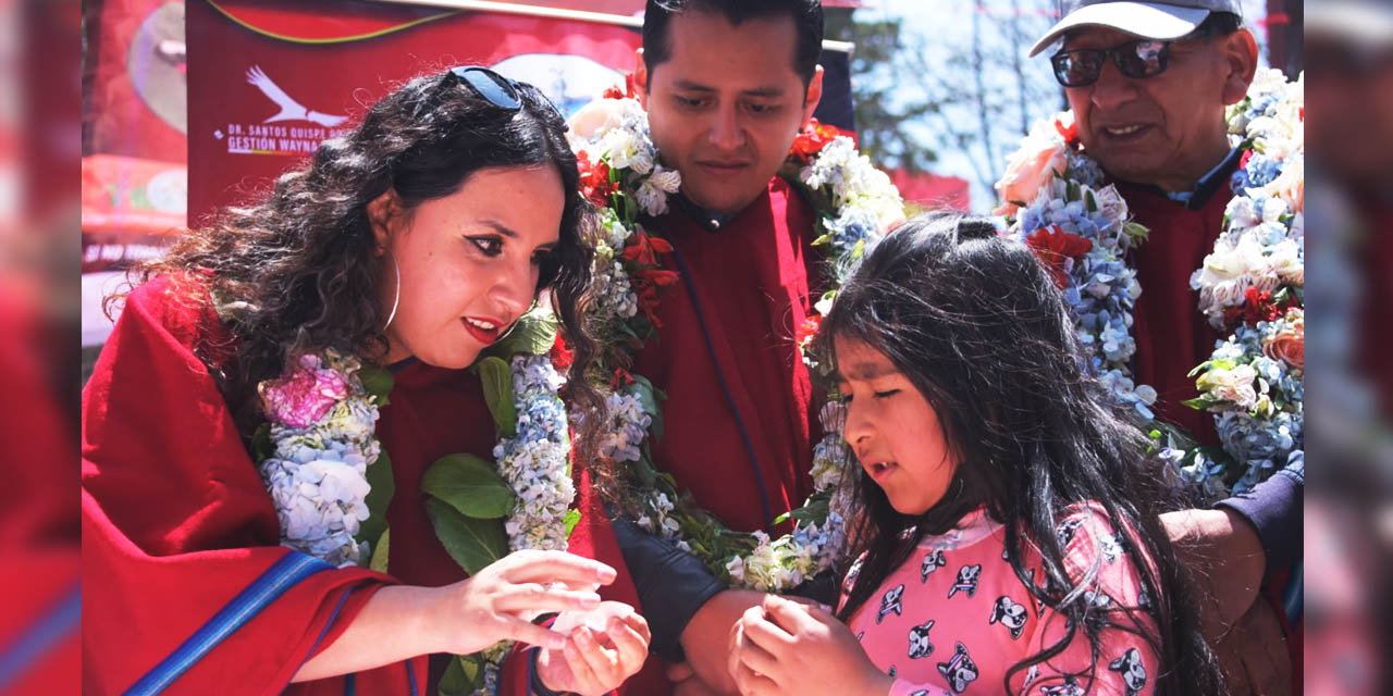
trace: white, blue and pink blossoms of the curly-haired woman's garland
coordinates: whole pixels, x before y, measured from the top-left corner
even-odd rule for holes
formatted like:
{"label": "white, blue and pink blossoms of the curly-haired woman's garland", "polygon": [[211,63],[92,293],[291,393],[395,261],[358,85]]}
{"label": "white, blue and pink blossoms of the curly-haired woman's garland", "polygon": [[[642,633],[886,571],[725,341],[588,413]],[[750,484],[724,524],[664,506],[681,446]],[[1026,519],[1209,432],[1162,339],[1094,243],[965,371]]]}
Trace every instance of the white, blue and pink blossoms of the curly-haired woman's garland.
{"label": "white, blue and pink blossoms of the curly-haired woman's garland", "polygon": [[[272,454],[259,462],[281,526],[281,544],[337,567],[365,565],[368,541],[357,541],[369,512],[368,466],[382,451],[375,433],[383,395],[364,388],[362,366],[327,349],[301,356],[297,369],[259,386],[270,420]],[[570,432],[559,390],[566,383],[542,355],[514,355],[510,365],[517,409],[514,437],[493,448],[497,472],[515,501],[504,521],[508,548],[566,550],[578,516],[570,470]],[[468,656],[481,672],[474,693],[495,695],[511,642]]]}

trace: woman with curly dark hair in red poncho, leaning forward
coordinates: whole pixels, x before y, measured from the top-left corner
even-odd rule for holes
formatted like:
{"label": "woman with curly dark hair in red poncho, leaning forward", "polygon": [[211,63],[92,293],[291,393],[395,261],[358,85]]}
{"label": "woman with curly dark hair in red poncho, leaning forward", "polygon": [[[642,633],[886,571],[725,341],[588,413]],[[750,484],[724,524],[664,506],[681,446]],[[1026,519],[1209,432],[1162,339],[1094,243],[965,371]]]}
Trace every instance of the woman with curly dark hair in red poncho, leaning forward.
{"label": "woman with curly dark hair in red poncho, leaning forward", "polygon": [[[613,568],[521,550],[469,575],[422,480],[447,455],[507,454],[497,398],[465,367],[538,299],[574,355],[560,390],[573,422],[598,404],[579,379],[593,355],[578,322],[588,206],[564,129],[540,92],[486,68],[412,79],[117,298],[82,395],[89,689],[435,693],[469,675],[418,657],[500,640],[545,649],[507,660],[510,692],[602,693],[638,670],[646,625],[596,594]],[[520,390],[552,390],[538,413],[556,418],[550,362],[513,365],[527,366]],[[566,480],[522,473],[564,509],[560,423],[532,444]],[[471,483],[453,484],[464,498],[432,491],[468,503]],[[373,505],[390,544],[355,539]],[[369,554],[390,575],[365,568]],[[534,624],[543,612],[561,615]]]}

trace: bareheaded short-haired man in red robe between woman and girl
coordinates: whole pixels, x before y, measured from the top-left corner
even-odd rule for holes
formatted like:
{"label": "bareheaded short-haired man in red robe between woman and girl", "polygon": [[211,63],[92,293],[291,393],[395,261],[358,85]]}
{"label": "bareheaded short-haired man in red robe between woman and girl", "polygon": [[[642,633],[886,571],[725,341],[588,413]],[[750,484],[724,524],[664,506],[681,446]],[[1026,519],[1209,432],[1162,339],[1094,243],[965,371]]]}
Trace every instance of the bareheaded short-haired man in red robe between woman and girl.
{"label": "bareheaded short-haired man in red robe between woman and girl", "polygon": [[[826,290],[822,253],[811,206],[776,175],[820,99],[820,49],[816,0],[649,0],[634,74],[662,163],[683,177],[671,210],[646,223],[673,245],[663,267],[680,274],[632,366],[667,394],[653,459],[745,532],[787,530],[773,518],[812,491],[822,434],[794,342]],[[671,672],[677,693],[733,692],[727,635],[761,594],[724,590],[632,525],[617,532],[652,650],[685,660]]]}

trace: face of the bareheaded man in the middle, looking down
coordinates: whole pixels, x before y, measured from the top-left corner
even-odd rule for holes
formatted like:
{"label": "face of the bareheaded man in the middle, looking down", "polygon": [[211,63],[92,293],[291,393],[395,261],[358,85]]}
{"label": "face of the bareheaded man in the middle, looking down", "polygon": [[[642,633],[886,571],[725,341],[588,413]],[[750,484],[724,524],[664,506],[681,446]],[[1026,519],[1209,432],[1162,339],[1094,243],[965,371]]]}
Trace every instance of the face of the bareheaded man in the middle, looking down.
{"label": "face of the bareheaded man in the middle, looking down", "polygon": [[683,175],[698,206],[734,213],[763,192],[822,96],[822,68],[804,89],[793,68],[791,17],[740,26],[709,13],[671,18],[671,54],[639,58],[638,99],[663,164]]}

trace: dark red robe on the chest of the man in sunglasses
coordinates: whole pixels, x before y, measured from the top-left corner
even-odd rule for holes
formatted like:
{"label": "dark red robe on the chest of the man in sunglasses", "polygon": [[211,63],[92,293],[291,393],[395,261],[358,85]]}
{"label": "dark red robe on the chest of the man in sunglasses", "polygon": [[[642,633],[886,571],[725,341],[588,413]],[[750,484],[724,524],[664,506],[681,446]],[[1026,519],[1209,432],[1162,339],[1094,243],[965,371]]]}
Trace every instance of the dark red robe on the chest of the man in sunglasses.
{"label": "dark red robe on the chest of the man in sunglasses", "polygon": [[1201,444],[1216,445],[1213,415],[1183,404],[1199,395],[1187,374],[1208,361],[1215,341],[1223,338],[1199,312],[1199,291],[1190,288],[1190,276],[1213,251],[1233,191],[1222,185],[1199,210],[1145,187],[1120,182],[1117,191],[1137,221],[1151,228],[1133,259],[1141,284],[1133,315],[1133,379],[1156,388],[1153,411],[1160,420],[1184,427]]}

